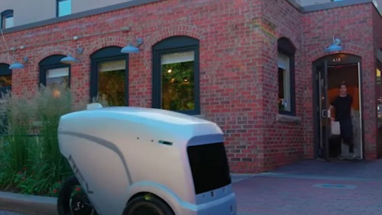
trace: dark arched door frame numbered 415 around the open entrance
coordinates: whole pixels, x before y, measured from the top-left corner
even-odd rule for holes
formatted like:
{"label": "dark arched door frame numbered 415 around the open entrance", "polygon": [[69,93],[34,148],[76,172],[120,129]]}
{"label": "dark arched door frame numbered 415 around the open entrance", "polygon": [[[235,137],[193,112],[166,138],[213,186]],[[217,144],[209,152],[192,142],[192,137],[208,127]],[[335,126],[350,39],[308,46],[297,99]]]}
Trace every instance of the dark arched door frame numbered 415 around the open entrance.
{"label": "dark arched door frame numbered 415 around the open entrance", "polygon": [[[321,119],[321,110],[319,108],[319,79],[317,74],[317,66],[324,65],[326,61],[327,67],[344,65],[344,64],[357,64],[358,65],[358,93],[359,93],[359,120],[361,122],[361,160],[364,159],[364,120],[363,120],[363,84],[362,84],[362,58],[357,55],[352,55],[348,53],[336,53],[325,55],[324,57],[318,58],[312,62],[312,107],[313,107],[313,133],[314,133],[314,158],[324,158],[328,160],[327,153],[324,154],[324,157],[320,156],[320,119]],[[327,68],[326,68],[327,69]],[[327,77],[326,77],[327,78]]]}

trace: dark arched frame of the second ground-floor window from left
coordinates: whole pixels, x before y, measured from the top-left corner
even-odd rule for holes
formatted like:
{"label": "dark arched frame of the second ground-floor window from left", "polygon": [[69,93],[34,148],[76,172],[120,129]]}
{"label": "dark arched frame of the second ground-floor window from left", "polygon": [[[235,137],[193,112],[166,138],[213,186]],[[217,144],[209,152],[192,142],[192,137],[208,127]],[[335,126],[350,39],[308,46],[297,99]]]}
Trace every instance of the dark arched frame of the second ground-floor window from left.
{"label": "dark arched frame of the second ground-floor window from left", "polygon": [[65,55],[50,55],[39,62],[39,86],[42,84],[46,86],[47,84],[47,71],[58,68],[68,68],[68,88],[70,88],[71,82],[71,65],[66,63],[61,63],[61,59],[66,57]]}

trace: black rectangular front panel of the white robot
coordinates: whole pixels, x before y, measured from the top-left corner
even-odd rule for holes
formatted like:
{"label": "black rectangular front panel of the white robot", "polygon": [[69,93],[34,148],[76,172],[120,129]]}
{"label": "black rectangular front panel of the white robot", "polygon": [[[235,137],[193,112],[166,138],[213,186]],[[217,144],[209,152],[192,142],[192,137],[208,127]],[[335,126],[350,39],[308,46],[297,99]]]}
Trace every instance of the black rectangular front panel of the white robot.
{"label": "black rectangular front panel of the white robot", "polygon": [[187,148],[196,194],[231,183],[227,154],[222,142]]}

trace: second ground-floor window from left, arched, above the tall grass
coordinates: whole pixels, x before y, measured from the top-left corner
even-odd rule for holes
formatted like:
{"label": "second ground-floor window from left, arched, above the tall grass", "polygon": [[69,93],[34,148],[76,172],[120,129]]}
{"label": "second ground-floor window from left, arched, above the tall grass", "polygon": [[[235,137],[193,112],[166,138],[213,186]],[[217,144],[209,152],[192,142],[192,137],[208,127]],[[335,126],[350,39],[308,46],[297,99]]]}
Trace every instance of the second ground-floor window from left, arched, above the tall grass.
{"label": "second ground-floor window from left, arched, above the tall grass", "polygon": [[65,55],[51,55],[40,61],[40,84],[51,87],[70,87],[70,65],[61,63]]}

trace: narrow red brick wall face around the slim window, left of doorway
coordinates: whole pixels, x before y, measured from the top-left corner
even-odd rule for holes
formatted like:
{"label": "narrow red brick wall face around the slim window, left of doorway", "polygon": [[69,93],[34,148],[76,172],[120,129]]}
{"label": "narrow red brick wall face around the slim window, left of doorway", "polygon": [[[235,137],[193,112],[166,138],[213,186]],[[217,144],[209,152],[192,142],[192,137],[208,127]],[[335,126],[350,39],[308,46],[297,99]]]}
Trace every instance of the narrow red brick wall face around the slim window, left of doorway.
{"label": "narrow red brick wall face around the slim window, left of doorway", "polygon": [[302,52],[302,23],[300,13],[285,0],[264,0],[263,17],[265,39],[263,41],[263,102],[265,134],[264,170],[289,163],[304,157],[304,124],[277,121],[278,115],[278,76],[277,76],[277,39],[286,37],[296,48],[295,53],[295,97],[296,116],[304,118],[303,95],[306,90]]}

